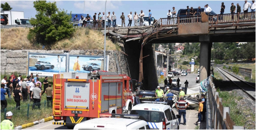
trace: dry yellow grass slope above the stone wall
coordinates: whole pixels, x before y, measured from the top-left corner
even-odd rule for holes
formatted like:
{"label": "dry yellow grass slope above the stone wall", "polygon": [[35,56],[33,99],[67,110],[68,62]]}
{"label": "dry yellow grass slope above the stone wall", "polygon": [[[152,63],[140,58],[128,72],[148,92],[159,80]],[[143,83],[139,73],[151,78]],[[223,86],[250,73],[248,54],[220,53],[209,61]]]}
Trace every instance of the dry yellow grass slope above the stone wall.
{"label": "dry yellow grass slope above the stone wall", "polygon": [[[41,50],[44,43],[30,42],[27,38],[29,28],[1,29],[1,49],[19,50],[38,49]],[[32,38],[34,39],[34,38]],[[49,49],[49,46],[46,45]],[[103,50],[104,35],[99,31],[93,31],[88,28],[76,28],[70,38],[64,38],[50,45],[52,50]],[[117,43],[112,43],[110,39],[106,40],[106,50],[120,50]]]}

